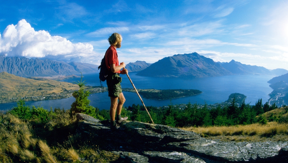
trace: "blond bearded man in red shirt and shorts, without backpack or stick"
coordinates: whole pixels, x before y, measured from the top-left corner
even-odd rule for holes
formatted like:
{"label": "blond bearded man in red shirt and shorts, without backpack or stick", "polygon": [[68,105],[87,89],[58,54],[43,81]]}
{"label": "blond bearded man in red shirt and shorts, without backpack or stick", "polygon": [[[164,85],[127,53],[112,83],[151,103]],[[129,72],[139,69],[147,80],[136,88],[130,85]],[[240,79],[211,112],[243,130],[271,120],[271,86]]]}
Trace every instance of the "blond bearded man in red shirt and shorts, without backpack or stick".
{"label": "blond bearded man in red shirt and shorts, without backpack or stick", "polygon": [[[109,70],[109,74],[107,77],[107,86],[108,86],[108,96],[111,100],[110,106],[110,120],[111,120],[111,129],[112,130],[124,130],[124,128],[120,127],[122,121],[126,121],[128,117],[121,117],[122,106],[125,102],[124,95],[121,89],[121,81],[122,77],[120,74],[128,73],[127,69],[122,69],[126,65],[124,62],[120,63],[118,61],[118,54],[116,48],[121,47],[122,36],[118,33],[113,33],[108,38],[109,44],[111,45],[106,53],[105,53],[105,62],[107,69]],[[122,69],[122,70],[121,70]],[[119,102],[118,102],[119,100]],[[115,121],[115,112],[117,111],[116,121]]]}

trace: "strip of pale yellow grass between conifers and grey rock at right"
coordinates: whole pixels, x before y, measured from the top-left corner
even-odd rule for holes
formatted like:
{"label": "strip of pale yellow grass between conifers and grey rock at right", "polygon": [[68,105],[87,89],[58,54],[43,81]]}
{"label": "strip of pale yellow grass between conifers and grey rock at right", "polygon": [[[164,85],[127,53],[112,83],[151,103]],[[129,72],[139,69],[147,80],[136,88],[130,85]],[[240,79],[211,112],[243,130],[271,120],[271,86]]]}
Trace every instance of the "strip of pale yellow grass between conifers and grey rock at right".
{"label": "strip of pale yellow grass between conifers and grey rock at right", "polygon": [[279,124],[277,122],[268,122],[266,125],[258,123],[251,125],[237,126],[214,126],[214,127],[184,127],[187,131],[199,133],[202,137],[208,136],[231,136],[231,135],[259,135],[273,136],[276,134],[288,134],[288,124]]}

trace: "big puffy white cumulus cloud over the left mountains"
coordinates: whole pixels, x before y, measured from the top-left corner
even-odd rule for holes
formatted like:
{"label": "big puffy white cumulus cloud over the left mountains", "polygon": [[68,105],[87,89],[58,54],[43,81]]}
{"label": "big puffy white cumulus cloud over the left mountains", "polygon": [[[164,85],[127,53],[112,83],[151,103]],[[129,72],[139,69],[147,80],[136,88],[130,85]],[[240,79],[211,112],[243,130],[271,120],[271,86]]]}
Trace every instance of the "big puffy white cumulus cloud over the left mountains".
{"label": "big puffy white cumulus cloud over the left mountains", "polygon": [[51,36],[47,31],[35,31],[23,19],[4,30],[0,37],[0,54],[8,57],[54,57],[69,60],[72,57],[88,57],[96,53],[91,44],[74,44],[61,36]]}

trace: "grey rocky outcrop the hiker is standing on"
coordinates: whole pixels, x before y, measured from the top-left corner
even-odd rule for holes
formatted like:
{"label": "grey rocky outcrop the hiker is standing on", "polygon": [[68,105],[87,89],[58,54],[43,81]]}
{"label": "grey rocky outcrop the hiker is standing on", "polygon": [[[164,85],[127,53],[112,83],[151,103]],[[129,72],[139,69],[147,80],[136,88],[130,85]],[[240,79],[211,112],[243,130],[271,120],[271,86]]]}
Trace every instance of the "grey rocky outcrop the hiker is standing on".
{"label": "grey rocky outcrop the hiker is standing on", "polygon": [[[287,162],[288,142],[224,142],[192,131],[127,121],[111,131],[109,121],[77,114],[77,133],[87,143],[120,155],[118,162]],[[117,162],[117,161],[116,161]]]}

